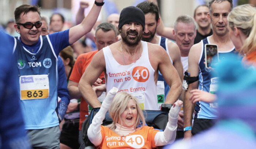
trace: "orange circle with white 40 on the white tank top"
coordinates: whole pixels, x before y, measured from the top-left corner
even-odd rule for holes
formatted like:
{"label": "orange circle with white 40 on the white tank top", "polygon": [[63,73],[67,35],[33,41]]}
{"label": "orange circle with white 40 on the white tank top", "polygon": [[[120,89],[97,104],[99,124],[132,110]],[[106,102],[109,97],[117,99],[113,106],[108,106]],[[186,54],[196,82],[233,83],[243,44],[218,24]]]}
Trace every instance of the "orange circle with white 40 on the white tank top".
{"label": "orange circle with white 40 on the white tank top", "polygon": [[146,82],[149,78],[149,71],[143,66],[135,67],[132,70],[132,77],[138,82]]}

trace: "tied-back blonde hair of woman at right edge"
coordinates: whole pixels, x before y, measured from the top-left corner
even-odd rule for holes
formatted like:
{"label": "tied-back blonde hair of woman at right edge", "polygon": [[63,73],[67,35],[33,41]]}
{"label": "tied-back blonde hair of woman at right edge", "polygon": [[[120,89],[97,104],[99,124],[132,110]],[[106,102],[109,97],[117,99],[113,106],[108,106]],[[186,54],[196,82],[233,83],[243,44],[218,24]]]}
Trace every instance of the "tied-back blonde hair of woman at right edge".
{"label": "tied-back blonde hair of woman at right edge", "polygon": [[229,27],[234,30],[237,27],[247,38],[244,45],[237,49],[242,55],[248,55],[256,48],[256,8],[250,4],[240,5],[234,8],[228,15]]}

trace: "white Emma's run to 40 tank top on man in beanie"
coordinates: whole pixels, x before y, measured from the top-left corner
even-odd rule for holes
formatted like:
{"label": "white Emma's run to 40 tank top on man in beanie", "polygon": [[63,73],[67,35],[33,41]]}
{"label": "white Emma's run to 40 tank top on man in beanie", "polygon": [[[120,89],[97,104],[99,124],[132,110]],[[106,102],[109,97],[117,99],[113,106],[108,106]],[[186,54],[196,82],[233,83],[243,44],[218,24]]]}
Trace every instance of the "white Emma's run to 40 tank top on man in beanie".
{"label": "white Emma's run to 40 tank top on man in beanie", "polygon": [[154,81],[155,70],[148,58],[147,42],[142,41],[142,55],[132,64],[121,65],[114,59],[109,46],[103,48],[106,62],[107,91],[113,86],[119,92],[127,92],[135,96],[140,108],[144,110],[158,110],[157,85]]}

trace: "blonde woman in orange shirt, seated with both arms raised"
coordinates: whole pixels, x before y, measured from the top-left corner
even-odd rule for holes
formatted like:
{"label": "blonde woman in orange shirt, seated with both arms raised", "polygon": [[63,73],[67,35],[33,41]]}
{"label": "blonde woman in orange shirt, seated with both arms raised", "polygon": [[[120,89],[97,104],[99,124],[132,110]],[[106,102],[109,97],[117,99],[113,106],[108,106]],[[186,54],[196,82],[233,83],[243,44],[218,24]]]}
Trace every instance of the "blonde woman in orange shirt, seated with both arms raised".
{"label": "blonde woman in orange shirt, seated with both arms raised", "polygon": [[[160,132],[145,126],[143,112],[134,96],[117,92],[117,88],[109,91],[88,129],[88,138],[96,148],[156,148],[174,142],[182,101],[173,104],[166,128]],[[113,123],[102,126],[108,110]]]}

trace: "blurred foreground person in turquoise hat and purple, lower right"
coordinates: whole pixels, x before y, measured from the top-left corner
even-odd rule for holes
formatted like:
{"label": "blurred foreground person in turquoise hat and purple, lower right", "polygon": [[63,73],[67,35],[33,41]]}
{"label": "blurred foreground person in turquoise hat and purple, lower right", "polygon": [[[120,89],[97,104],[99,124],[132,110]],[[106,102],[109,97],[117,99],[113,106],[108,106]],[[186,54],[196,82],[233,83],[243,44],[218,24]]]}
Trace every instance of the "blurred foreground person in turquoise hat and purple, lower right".
{"label": "blurred foreground person in turquoise hat and purple, lower right", "polygon": [[237,56],[232,56],[219,63],[217,73],[217,123],[193,139],[177,142],[170,148],[256,148],[256,116],[252,114],[256,112],[256,70],[246,69]]}

